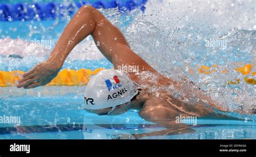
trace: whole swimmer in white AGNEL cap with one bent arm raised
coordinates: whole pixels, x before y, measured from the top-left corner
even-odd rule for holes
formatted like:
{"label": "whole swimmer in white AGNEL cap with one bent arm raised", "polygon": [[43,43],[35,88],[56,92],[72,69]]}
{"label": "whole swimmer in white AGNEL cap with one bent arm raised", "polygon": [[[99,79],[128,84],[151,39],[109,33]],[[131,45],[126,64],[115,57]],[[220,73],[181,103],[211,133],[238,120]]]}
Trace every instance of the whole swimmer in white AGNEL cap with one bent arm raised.
{"label": "whole swimmer in white AGNEL cap with one bent arm raised", "polygon": [[[131,50],[118,28],[89,5],[80,8],[65,27],[49,59],[26,72],[17,87],[30,89],[49,83],[57,76],[71,50],[88,35],[92,35],[99,51],[116,69],[102,70],[90,79],[84,98],[88,112],[119,115],[129,109],[136,109],[145,120],[170,125],[175,124],[175,117],[180,115],[228,118],[223,114],[228,108],[213,102],[200,89],[192,90],[191,86],[187,87],[191,90],[185,92],[183,83],[154,70]],[[139,68],[136,73],[126,75],[118,70],[118,67],[124,65]],[[165,90],[167,87],[171,88]],[[179,97],[179,92],[185,94]],[[193,95],[197,97],[191,98],[190,92],[194,92]]]}

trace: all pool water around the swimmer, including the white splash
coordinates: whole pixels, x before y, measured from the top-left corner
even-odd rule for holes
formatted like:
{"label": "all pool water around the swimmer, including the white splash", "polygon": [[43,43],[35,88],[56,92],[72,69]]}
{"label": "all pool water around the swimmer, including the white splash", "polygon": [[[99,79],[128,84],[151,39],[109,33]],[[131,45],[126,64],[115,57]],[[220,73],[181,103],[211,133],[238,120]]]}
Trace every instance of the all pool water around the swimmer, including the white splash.
{"label": "all pool water around the swimmer, including the white splash", "polygon": [[[133,51],[158,72],[178,81],[184,77],[192,80],[215,101],[228,102],[231,111],[242,107],[249,112],[255,109],[255,85],[242,81],[227,85],[226,82],[244,79],[244,75],[232,70],[239,66],[250,63],[254,65],[251,71],[256,72],[253,3],[164,0],[147,2],[145,13],[100,11],[120,28]],[[0,70],[27,71],[44,61],[69,18],[0,22]],[[35,39],[51,44],[35,46],[31,44]],[[228,44],[207,47],[206,41],[210,39]],[[197,70],[198,65],[217,65],[219,69],[216,73],[202,75]],[[112,67],[88,37],[73,49],[63,69]],[[193,75],[190,69],[194,70]],[[219,73],[224,69],[228,69],[227,74]],[[251,74],[248,76],[255,79]],[[134,139],[133,134],[167,129],[142,119],[136,110],[114,117],[88,113],[83,110],[85,88],[0,88],[0,116],[21,117],[20,125],[0,123],[0,139]],[[194,131],[189,133],[159,134],[142,139],[256,139],[255,115],[231,112],[230,116],[241,120],[201,118],[197,119],[196,126],[191,125]]]}

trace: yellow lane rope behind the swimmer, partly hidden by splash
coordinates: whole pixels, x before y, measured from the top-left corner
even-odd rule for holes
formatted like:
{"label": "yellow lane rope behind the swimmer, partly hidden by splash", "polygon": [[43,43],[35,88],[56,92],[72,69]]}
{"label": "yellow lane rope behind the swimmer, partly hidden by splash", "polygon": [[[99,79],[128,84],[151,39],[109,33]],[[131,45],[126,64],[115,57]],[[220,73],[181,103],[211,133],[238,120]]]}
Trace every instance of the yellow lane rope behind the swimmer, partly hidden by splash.
{"label": "yellow lane rope behind the swimmer, partly hidden by splash", "polygon": [[[242,75],[251,75],[245,76],[244,81],[247,84],[255,85],[256,80],[252,78],[252,76],[256,76],[256,72],[251,72],[252,65],[248,64],[243,67],[238,67],[234,70],[241,73]],[[209,75],[211,73],[217,72],[217,65],[208,66],[198,66],[198,71],[200,74]],[[47,86],[60,86],[60,85],[85,85],[89,82],[90,76],[97,74],[103,68],[98,68],[96,70],[91,69],[64,69],[58,73],[58,75],[53,79]],[[193,69],[188,69],[192,75],[194,74]],[[222,74],[227,74],[228,70],[221,70]],[[0,71],[0,87],[9,87],[17,84],[17,81],[22,78],[22,71],[12,71],[12,72],[4,72]],[[241,83],[241,79],[234,79],[227,81],[227,84],[235,85]]]}

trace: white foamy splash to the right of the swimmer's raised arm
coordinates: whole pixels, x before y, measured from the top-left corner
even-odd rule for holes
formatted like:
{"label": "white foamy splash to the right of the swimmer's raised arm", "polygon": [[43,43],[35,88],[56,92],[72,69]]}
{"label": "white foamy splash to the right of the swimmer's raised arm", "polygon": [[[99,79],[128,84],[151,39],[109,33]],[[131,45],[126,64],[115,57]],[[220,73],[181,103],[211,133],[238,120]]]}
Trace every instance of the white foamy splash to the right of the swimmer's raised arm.
{"label": "white foamy splash to the right of the swimmer's raised arm", "polygon": [[[160,3],[159,3],[160,2]],[[255,8],[253,1],[150,1],[123,32],[135,52],[159,72],[195,81],[205,94],[231,111],[255,110],[255,86],[226,81],[243,76],[233,70],[251,63],[255,72]],[[225,46],[207,46],[207,41]],[[217,72],[199,74],[198,65],[217,65]],[[191,75],[187,69],[193,69]],[[227,74],[221,70],[228,69]],[[189,82],[189,81],[188,81]],[[183,83],[185,92],[193,92]],[[196,96],[196,94],[195,94]],[[254,110],[253,110],[254,108]],[[255,112],[255,111],[254,111]]]}

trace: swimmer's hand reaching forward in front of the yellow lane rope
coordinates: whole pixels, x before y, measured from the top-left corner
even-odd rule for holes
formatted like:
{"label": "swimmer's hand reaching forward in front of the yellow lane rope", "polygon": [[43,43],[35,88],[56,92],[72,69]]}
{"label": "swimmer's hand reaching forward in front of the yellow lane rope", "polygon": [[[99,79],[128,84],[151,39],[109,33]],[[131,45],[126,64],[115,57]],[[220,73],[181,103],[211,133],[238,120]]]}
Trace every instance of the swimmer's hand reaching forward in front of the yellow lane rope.
{"label": "swimmer's hand reaching forward in front of the yellow lane rope", "polygon": [[18,81],[17,88],[29,89],[45,85],[57,76],[60,68],[55,62],[41,62],[22,75],[23,79]]}

